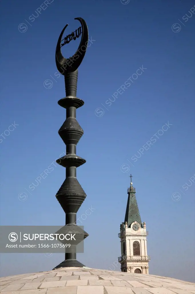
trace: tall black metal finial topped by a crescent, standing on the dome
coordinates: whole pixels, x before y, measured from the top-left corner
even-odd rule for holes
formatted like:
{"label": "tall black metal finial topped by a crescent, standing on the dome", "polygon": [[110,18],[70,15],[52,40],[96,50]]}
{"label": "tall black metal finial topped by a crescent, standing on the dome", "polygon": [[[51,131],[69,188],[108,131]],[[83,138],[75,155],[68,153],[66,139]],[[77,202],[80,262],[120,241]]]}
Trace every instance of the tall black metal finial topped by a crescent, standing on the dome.
{"label": "tall black metal finial topped by a crescent, standing on the dome", "polygon": [[[78,66],[81,64],[88,44],[88,28],[85,21],[81,18],[76,18],[82,25],[82,38],[79,48],[85,46],[82,54],[77,59],[73,59],[75,54],[70,59],[65,59],[61,54],[60,44],[64,30],[62,30],[58,39],[56,47],[56,65],[57,69],[61,69],[60,73],[64,75],[66,97],[58,101],[61,107],[66,108],[66,121],[63,123],[58,133],[61,139],[66,144],[66,155],[59,158],[56,162],[66,168],[66,179],[61,188],[56,194],[61,207],[66,213],[66,225],[76,226],[76,213],[81,204],[85,200],[86,194],[76,178],[76,168],[85,163],[85,159],[76,155],[76,145],[83,136],[83,129],[76,120],[76,109],[83,106],[84,101],[76,97],[77,79],[78,79]],[[76,34],[78,37],[80,33]],[[75,39],[72,33],[66,36],[63,40],[65,44]],[[63,44],[63,46],[65,45]],[[79,49],[78,49],[79,50]],[[78,52],[76,51],[76,53]],[[72,62],[71,66],[69,62]],[[62,69],[63,68],[63,69]],[[84,239],[88,233],[84,232]],[[83,267],[84,265],[76,260],[76,250],[71,253],[65,253],[65,260],[57,265],[54,269],[60,267]]]}

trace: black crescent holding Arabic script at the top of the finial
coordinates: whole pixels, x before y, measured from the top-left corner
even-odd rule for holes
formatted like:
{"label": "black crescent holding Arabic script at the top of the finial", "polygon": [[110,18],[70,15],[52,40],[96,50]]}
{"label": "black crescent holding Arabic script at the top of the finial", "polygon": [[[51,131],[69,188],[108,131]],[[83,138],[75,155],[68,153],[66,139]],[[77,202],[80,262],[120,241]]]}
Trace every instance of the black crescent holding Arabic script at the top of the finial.
{"label": "black crescent holding Arabic script at the top of the finial", "polygon": [[[75,19],[80,21],[81,28],[82,28],[81,42],[80,42],[75,54],[68,59],[64,58],[64,56],[61,53],[61,46],[64,46],[65,44],[69,43],[71,40],[75,40],[78,36],[80,36],[80,34],[79,34],[80,28],[78,28],[78,34],[76,34],[76,36],[74,36],[73,32],[70,35],[67,35],[64,38],[65,41],[64,41],[64,44],[62,45],[61,44],[62,36],[64,34],[65,29],[68,26],[68,24],[66,24],[64,29],[61,31],[61,34],[59,36],[57,46],[56,46],[56,66],[57,66],[57,69],[60,72],[60,74],[62,74],[63,76],[65,76],[66,73],[68,73],[68,72],[70,73],[70,72],[76,71],[76,69],[78,69],[78,67],[80,66],[80,64],[85,56],[85,52],[86,52],[87,45],[88,45],[89,33],[88,33],[87,24],[84,21],[84,19],[82,19],[81,17],[76,17]],[[69,41],[68,41],[68,38],[69,38]]]}

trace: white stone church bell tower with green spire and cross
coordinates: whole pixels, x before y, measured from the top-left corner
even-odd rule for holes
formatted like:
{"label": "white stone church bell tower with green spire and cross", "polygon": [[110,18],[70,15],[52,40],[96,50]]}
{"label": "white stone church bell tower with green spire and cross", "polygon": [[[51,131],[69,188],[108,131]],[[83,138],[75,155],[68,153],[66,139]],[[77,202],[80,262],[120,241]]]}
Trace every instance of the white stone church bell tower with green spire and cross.
{"label": "white stone church bell tower with green spire and cross", "polygon": [[[132,178],[132,176],[130,176]],[[132,179],[131,179],[132,180]],[[118,258],[122,272],[148,274],[150,256],[147,255],[146,223],[141,217],[136,200],[136,189],[127,189],[128,200],[124,222],[120,225],[121,256]]]}

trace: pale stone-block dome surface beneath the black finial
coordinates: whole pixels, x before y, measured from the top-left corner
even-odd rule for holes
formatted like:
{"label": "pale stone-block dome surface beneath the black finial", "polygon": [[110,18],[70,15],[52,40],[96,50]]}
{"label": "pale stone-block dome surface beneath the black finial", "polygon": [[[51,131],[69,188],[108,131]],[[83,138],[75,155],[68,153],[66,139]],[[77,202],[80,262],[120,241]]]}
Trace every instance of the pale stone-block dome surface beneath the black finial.
{"label": "pale stone-block dome surface beneath the black finial", "polygon": [[2,294],[195,294],[195,283],[94,268],[58,268],[0,278]]}

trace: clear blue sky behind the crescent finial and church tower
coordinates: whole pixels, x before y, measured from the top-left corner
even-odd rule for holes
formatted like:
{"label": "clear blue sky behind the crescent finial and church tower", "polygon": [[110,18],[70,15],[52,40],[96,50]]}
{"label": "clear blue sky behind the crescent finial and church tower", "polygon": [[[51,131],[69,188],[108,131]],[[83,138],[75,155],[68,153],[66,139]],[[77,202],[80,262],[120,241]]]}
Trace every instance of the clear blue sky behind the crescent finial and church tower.
{"label": "clear blue sky behind the crescent finial and church tower", "polygon": [[[55,198],[65,179],[55,159],[65,152],[58,130],[66,117],[57,104],[65,88],[55,49],[66,23],[69,34],[79,24],[74,18],[82,17],[93,43],[78,76],[77,96],[85,104],[77,110],[84,130],[77,155],[87,162],[77,178],[87,198],[77,217],[84,215],[80,224],[89,236],[77,259],[114,269],[131,173],[149,231],[149,273],[194,281],[195,14],[189,12],[194,5],[192,0],[1,3],[1,225],[65,224]],[[69,45],[63,47],[66,57],[78,41]],[[46,80],[52,81],[49,87]],[[89,208],[93,212],[85,219]],[[1,254],[0,274],[50,270],[63,258]]]}

